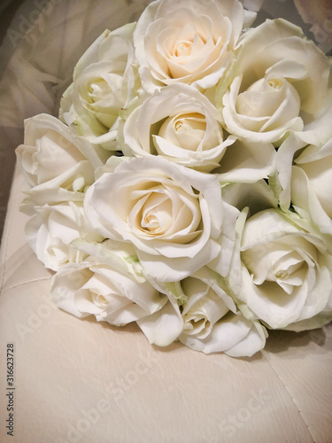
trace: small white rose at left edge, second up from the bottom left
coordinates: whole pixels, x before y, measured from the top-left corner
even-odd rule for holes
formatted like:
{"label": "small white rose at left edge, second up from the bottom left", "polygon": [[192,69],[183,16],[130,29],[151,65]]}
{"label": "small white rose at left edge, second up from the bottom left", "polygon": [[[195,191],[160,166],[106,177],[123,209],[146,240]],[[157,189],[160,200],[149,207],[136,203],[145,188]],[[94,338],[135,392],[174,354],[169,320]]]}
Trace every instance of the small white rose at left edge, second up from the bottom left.
{"label": "small white rose at left edge, second up from the bottom left", "polygon": [[35,214],[26,225],[27,242],[46,268],[57,271],[68,262],[80,262],[87,256],[71,245],[84,237],[101,240],[86,220],[82,202],[35,206]]}

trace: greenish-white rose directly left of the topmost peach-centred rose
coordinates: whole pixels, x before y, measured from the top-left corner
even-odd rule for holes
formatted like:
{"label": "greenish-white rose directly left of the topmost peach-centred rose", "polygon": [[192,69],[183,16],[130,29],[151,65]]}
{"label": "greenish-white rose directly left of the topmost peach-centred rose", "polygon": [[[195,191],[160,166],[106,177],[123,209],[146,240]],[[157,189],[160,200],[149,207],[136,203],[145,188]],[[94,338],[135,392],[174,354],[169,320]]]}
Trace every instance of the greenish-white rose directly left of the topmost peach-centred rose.
{"label": "greenish-white rose directly left of the topmost peach-centred rose", "polygon": [[104,31],[78,61],[73,83],[61,100],[60,116],[92,144],[118,149],[121,109],[136,95],[135,23]]}

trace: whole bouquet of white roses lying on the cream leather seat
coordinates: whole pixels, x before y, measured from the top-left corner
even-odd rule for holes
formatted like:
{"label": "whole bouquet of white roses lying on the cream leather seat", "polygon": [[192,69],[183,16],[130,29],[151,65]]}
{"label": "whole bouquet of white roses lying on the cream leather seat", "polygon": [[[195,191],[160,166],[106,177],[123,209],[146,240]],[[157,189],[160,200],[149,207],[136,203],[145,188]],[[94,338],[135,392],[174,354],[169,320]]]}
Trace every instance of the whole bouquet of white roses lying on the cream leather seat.
{"label": "whole bouquet of white roses lying on the cream leather seat", "polygon": [[230,356],[332,319],[330,60],[255,16],[154,1],[83,54],[59,119],[26,121],[21,209],[58,307]]}

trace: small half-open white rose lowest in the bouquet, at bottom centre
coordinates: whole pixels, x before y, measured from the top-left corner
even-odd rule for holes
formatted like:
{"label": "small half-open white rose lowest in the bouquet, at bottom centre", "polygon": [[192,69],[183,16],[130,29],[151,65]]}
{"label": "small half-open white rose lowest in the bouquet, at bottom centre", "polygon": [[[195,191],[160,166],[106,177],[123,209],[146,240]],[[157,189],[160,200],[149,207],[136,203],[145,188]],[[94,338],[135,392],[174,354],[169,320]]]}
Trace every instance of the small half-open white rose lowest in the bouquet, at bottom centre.
{"label": "small half-open white rose lowest in the bouquet, at bottom centre", "polygon": [[265,329],[235,314],[233,299],[211,271],[201,269],[183,280],[181,286],[188,297],[181,311],[181,343],[205,354],[224,352],[232,357],[251,356],[265,346]]}

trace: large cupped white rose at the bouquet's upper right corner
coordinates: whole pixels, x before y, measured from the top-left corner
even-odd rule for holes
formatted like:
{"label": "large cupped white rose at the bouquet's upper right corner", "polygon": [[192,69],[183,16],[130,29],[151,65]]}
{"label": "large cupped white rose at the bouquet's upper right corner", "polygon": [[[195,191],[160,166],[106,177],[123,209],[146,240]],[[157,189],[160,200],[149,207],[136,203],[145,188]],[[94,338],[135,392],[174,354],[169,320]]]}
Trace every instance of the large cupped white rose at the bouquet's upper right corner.
{"label": "large cupped white rose at the bouquet's upper right corner", "polygon": [[328,58],[300,28],[266,20],[243,35],[237,51],[230,86],[225,92],[220,82],[217,98],[231,134],[280,144],[318,116],[328,93]]}

